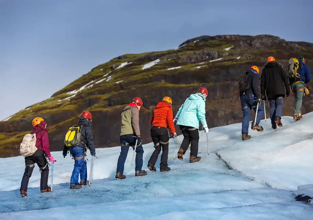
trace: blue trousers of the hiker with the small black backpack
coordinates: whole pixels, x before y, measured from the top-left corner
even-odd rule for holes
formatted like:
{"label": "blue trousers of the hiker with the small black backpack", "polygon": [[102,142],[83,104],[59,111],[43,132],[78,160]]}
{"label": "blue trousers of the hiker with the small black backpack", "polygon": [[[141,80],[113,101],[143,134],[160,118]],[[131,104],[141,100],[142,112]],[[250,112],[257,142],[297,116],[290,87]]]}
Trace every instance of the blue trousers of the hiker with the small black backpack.
{"label": "blue trousers of the hiker with the small black backpack", "polygon": [[[249,100],[248,100],[247,95],[249,95]],[[244,112],[244,117],[242,118],[241,133],[247,133],[248,134],[251,109],[253,108],[253,110],[256,112],[256,108],[257,108],[258,103],[254,100],[253,93],[248,93],[248,94],[240,96],[240,101],[241,101],[242,111]],[[264,114],[263,106],[262,106],[262,104],[259,104],[258,115],[256,118],[256,124],[260,123],[263,114]],[[253,122],[254,122],[254,119],[255,118],[253,118]]]}

